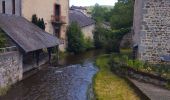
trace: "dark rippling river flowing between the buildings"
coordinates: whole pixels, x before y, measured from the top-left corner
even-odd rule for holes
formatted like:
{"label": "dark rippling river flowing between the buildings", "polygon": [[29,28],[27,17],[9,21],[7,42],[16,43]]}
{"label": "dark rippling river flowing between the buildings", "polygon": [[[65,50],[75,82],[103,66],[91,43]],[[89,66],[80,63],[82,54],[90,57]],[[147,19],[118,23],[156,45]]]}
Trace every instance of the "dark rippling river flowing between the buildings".
{"label": "dark rippling river flowing between the buildings", "polygon": [[68,56],[62,66],[46,66],[15,84],[0,100],[87,100],[92,95],[92,78],[97,72],[94,58],[101,51]]}

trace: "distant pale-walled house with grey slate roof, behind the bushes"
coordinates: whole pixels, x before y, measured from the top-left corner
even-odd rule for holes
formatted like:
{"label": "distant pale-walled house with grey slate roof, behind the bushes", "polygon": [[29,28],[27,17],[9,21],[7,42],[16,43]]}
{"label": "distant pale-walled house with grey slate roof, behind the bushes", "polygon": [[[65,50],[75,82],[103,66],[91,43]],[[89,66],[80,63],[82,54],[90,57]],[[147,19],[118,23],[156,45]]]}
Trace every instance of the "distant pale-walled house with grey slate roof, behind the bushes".
{"label": "distant pale-walled house with grey slate roof, behind the bushes", "polygon": [[77,22],[80,26],[85,38],[93,40],[93,31],[95,29],[95,21],[78,10],[69,11],[69,23]]}

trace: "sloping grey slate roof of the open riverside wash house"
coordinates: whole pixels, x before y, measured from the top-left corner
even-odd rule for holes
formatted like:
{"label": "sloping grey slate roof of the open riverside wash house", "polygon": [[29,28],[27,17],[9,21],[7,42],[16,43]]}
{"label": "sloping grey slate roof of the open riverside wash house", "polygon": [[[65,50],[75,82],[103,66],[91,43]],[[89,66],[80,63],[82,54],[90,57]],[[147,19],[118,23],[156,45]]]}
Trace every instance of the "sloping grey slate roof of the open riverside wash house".
{"label": "sloping grey slate roof of the open riverside wash house", "polygon": [[0,28],[26,53],[59,45],[59,39],[23,17],[0,14]]}

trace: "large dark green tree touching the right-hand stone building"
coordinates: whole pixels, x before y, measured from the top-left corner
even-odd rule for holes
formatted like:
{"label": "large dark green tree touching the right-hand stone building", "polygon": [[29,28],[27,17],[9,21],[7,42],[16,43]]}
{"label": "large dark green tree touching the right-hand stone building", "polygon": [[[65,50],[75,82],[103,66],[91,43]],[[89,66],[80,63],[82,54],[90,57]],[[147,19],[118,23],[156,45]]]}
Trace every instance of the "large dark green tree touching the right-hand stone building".
{"label": "large dark green tree touching the right-hand stone building", "polygon": [[111,10],[112,29],[121,29],[131,27],[133,24],[133,0],[118,0]]}

